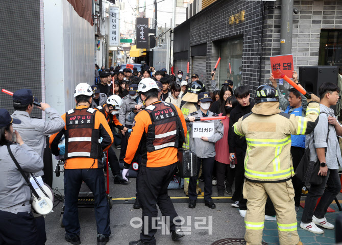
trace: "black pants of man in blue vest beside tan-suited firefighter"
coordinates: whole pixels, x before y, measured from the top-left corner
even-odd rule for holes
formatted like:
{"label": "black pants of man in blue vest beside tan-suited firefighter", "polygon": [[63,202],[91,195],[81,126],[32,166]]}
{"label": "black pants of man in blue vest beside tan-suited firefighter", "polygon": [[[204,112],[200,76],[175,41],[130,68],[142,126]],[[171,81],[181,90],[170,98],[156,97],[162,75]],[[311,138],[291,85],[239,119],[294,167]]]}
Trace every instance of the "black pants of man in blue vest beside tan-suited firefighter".
{"label": "black pants of man in blue vest beside tan-suited firefighter", "polygon": [[[305,152],[305,148],[291,146],[292,164],[294,165],[295,171],[298,167],[299,162],[301,161],[304,155],[304,152]],[[294,177],[292,177],[292,184],[294,185],[294,189],[295,189],[295,206],[299,207],[301,203],[303,183],[295,175]]]}

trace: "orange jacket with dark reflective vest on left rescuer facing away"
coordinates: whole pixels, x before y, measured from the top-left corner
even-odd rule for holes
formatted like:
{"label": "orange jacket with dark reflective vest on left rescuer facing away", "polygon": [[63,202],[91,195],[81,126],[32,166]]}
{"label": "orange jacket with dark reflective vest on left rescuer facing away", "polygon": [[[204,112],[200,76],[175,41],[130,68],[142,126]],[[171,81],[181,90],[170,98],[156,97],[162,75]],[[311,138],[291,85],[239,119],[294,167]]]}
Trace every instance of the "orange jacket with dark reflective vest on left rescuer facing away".
{"label": "orange jacket with dark reflective vest on left rescuer facing away", "polygon": [[[88,125],[86,123],[82,124],[81,121],[84,120],[83,115],[85,116],[85,120],[90,120]],[[87,119],[87,116],[90,116],[90,119]],[[76,118],[74,119],[74,117]],[[69,122],[66,123],[60,132],[50,136],[51,152],[55,156],[59,155],[58,144],[64,135],[66,152],[68,154],[67,159],[64,161],[64,167],[66,169],[103,167],[103,163],[101,161],[98,162],[98,159],[102,157],[101,152],[107,151],[113,143],[113,134],[104,115],[95,109],[81,105],[63,114],[62,119],[64,122],[68,119]],[[78,121],[77,124],[76,120]],[[73,125],[81,126],[74,127]],[[90,125],[91,127],[89,127]],[[99,142],[100,136],[103,138],[101,143]],[[97,138],[96,140],[95,137]],[[95,146],[95,141],[97,146]],[[67,144],[69,145],[67,146]],[[95,148],[96,150],[94,150]],[[84,152],[81,152],[82,149],[84,149]],[[94,155],[95,152],[97,153],[96,156]],[[70,153],[75,153],[75,155],[70,156]]]}

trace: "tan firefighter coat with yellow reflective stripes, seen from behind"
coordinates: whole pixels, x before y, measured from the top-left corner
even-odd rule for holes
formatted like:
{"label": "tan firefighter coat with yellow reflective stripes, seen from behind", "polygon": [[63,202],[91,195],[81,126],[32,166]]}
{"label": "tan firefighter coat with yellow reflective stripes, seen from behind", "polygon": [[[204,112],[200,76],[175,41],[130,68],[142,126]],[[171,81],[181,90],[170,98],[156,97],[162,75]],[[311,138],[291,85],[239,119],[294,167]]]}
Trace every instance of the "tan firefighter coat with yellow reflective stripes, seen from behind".
{"label": "tan firefighter coat with yellow reflective stripes, seen from behind", "polygon": [[233,126],[246,136],[245,177],[254,182],[283,182],[294,176],[291,134],[309,134],[318,122],[320,105],[311,102],[306,117],[282,113],[278,102],[256,104]]}

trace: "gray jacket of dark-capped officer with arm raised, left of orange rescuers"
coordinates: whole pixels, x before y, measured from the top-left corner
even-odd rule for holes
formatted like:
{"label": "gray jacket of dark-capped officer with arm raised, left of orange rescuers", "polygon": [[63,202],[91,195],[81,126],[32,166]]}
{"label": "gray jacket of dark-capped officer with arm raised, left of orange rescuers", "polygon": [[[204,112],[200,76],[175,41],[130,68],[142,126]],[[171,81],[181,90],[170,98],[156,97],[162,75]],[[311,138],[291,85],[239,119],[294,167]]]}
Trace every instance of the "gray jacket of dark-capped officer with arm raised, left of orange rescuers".
{"label": "gray jacket of dark-capped officer with arm raised, left of orange rescuers", "polygon": [[[14,111],[12,114],[13,118],[21,120],[21,124],[13,124],[13,129],[19,132],[22,140],[41,158],[44,156],[45,136],[55,134],[65,126],[65,122],[57,110],[50,107],[46,108],[45,112],[50,117],[50,121],[31,118],[26,111]],[[44,172],[39,171],[36,175],[42,176]]]}

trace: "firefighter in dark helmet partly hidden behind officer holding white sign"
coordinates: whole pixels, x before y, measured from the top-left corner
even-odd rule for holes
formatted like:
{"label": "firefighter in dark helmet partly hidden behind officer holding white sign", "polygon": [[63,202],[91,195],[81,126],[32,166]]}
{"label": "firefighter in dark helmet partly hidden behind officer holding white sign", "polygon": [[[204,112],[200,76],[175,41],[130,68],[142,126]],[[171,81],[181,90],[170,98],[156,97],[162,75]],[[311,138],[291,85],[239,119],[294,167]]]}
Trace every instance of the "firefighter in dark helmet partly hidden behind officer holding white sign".
{"label": "firefighter in dark helmet partly hidden behind officer holding white sign", "polygon": [[[184,118],[187,118],[188,115],[192,112],[196,112],[200,109],[198,104],[198,94],[200,92],[205,92],[205,86],[201,81],[195,81],[189,84],[189,88],[187,93],[182,97],[181,110]],[[187,129],[189,130],[189,128]],[[184,142],[184,147],[189,149],[189,135]],[[199,175],[201,176],[201,174]],[[188,195],[189,188],[189,178],[184,179],[184,192]],[[199,187],[199,180],[197,181],[197,192],[202,192]]]}

